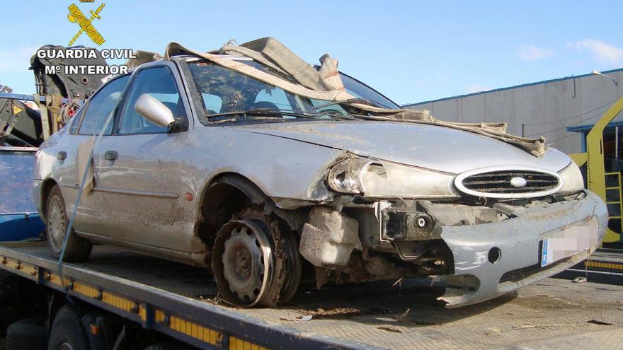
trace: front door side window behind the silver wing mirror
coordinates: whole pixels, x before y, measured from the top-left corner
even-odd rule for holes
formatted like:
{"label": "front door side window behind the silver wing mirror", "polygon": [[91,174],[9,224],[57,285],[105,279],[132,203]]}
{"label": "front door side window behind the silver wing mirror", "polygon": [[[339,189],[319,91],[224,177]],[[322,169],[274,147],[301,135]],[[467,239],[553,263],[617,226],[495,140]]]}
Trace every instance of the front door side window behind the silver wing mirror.
{"label": "front door side window behind the silver wing mirror", "polygon": [[156,67],[139,71],[127,94],[119,124],[119,134],[157,134],[166,132],[139,115],[134,105],[139,97],[147,93],[166,105],[173,117],[185,117],[186,112],[180,98],[177,84],[168,67]]}

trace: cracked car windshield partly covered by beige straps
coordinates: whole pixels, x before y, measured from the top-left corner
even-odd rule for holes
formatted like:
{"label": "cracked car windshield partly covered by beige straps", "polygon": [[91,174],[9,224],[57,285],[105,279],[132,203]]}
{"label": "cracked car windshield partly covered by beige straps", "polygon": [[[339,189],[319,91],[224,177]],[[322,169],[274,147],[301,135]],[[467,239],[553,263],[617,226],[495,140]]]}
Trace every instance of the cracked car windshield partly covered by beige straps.
{"label": "cracked car windshield partly covered by beige straps", "polygon": [[[241,62],[275,74],[256,62]],[[188,62],[188,67],[205,109],[205,124],[353,119],[348,105],[304,98],[211,62]],[[379,107],[398,108],[360,81],[345,74],[342,77],[346,90],[356,98]]]}

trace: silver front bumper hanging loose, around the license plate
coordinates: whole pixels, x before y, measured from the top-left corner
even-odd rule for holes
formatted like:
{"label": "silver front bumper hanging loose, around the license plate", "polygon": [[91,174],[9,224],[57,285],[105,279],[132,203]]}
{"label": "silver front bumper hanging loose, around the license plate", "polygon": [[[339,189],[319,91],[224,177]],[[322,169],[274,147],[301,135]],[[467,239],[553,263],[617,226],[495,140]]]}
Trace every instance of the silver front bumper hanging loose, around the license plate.
{"label": "silver front bumper hanging loose, around the license plate", "polygon": [[[440,297],[446,307],[496,298],[586,259],[601,243],[608,218],[604,202],[593,193],[585,194],[578,200],[514,211],[516,217],[505,221],[442,227],[441,238],[450,247],[455,264],[454,274],[438,276],[447,284]],[[542,267],[543,240],[581,226],[589,227],[583,232],[590,231],[590,244]],[[495,247],[501,255],[490,262],[488,254]]]}

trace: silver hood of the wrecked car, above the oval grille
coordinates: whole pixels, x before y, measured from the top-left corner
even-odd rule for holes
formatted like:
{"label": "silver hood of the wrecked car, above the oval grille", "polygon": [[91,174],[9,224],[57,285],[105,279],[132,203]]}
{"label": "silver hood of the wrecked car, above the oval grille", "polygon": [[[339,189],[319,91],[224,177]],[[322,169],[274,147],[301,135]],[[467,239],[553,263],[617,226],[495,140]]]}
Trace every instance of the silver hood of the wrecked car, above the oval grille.
{"label": "silver hood of the wrecked car, above the oval grille", "polygon": [[537,158],[491,137],[429,124],[290,122],[237,129],[453,174],[491,165],[525,165],[559,171],[571,161],[553,148]]}

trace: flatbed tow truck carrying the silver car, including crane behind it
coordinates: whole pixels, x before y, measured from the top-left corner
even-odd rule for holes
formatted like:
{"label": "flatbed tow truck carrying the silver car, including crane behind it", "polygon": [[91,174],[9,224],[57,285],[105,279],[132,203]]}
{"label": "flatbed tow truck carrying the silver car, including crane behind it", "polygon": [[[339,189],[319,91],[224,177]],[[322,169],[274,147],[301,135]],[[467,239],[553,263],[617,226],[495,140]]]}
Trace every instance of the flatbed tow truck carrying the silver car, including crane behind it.
{"label": "flatbed tow truck carrying the silver car, including crane behind it", "polygon": [[[95,82],[74,78],[55,89],[46,79],[38,78],[34,98],[4,98],[35,100],[50,134]],[[11,128],[33,120],[12,118]],[[26,140],[42,132],[21,130]],[[2,242],[0,323],[23,322],[11,325],[23,342],[8,334],[6,346],[24,350],[60,336],[73,336],[74,346],[58,349],[623,349],[623,259],[598,251],[588,262],[459,309],[444,308],[444,286],[430,279],[303,285],[286,305],[242,309],[219,299],[205,269],[107,246],[94,247],[87,262],[59,264],[41,241]]]}

